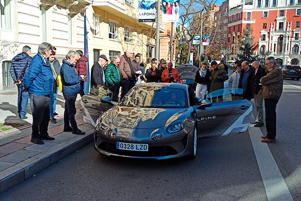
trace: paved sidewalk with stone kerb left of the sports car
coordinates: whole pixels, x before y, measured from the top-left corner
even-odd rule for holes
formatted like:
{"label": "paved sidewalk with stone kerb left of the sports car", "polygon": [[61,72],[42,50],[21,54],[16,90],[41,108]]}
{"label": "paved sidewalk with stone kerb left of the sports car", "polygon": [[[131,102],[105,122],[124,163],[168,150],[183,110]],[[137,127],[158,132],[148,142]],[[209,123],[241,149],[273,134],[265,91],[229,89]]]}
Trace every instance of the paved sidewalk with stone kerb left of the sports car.
{"label": "paved sidewalk with stone kerb left of the sports car", "polygon": [[[0,123],[21,124],[22,126],[0,132],[0,194],[8,191],[39,172],[64,159],[93,141],[94,128],[83,122],[76,102],[76,122],[85,135],[63,132],[64,99],[58,94],[56,112],[60,115],[57,124],[48,126],[48,133],[55,140],[44,141],[44,145],[30,142],[32,115],[28,105],[28,119],[18,118],[17,87],[0,91]],[[78,95],[77,100],[80,99]]]}

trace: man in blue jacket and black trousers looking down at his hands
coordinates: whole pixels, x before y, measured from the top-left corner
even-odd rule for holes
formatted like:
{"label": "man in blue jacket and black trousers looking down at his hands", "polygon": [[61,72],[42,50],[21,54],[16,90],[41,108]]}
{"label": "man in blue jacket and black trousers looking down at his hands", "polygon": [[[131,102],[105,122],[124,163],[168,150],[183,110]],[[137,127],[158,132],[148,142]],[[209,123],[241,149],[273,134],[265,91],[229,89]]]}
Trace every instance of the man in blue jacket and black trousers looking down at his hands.
{"label": "man in blue jacket and black trousers looking down at his hands", "polygon": [[82,132],[77,128],[75,121],[75,100],[77,93],[79,92],[79,82],[85,78],[84,75],[78,76],[75,68],[77,59],[79,59],[79,54],[75,51],[70,51],[66,55],[66,59],[63,59],[61,67],[63,95],[65,98],[64,132],[72,131],[73,134],[84,135],[85,132]]}

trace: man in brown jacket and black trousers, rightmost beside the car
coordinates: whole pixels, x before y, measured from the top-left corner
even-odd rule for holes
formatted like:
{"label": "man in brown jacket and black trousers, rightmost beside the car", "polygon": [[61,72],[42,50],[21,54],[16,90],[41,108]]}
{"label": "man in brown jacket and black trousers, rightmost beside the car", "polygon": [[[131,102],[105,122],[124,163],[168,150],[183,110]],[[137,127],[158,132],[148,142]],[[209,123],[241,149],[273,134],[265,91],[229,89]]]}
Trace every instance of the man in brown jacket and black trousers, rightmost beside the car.
{"label": "man in brown jacket and black trousers, rightmost beside the car", "polygon": [[283,75],[281,69],[276,66],[274,57],[268,57],[265,61],[267,75],[261,77],[262,88],[258,96],[264,98],[265,107],[265,136],[261,142],[270,143],[276,141],[276,105],[283,89]]}

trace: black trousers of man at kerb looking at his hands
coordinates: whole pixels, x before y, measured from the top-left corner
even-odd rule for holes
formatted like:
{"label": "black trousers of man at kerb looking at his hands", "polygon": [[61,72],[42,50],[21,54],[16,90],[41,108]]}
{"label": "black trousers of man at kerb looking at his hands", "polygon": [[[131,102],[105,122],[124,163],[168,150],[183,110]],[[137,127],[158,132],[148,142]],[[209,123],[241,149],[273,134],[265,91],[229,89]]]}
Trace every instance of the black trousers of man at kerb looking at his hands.
{"label": "black trousers of man at kerb looking at his hands", "polygon": [[[65,98],[65,112],[64,112],[64,128],[68,128],[71,124],[72,131],[77,130],[77,124],[75,121],[75,114],[76,114],[76,108],[75,108],[75,100],[76,95],[69,95],[64,96]],[[70,122],[70,124],[69,124]]]}

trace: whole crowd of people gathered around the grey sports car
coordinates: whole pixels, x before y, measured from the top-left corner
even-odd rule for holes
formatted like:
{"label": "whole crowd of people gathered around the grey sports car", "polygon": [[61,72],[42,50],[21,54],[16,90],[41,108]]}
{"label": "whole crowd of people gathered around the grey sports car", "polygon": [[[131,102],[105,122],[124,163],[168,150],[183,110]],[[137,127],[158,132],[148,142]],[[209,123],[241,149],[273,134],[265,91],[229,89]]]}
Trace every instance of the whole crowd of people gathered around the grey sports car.
{"label": "whole crowd of people gathered around the grey sports car", "polygon": [[[42,140],[54,140],[47,133],[48,124],[56,123],[57,93],[59,77],[62,82],[62,93],[65,99],[64,132],[83,135],[75,121],[75,101],[77,94],[84,95],[86,84],[91,91],[106,88],[112,100],[118,102],[136,84],[140,82],[179,82],[181,77],[173,63],[161,59],[159,65],[156,58],[142,59],[139,55],[133,57],[133,50],[127,49],[122,56],[115,56],[110,61],[101,54],[91,69],[90,83],[87,81],[88,58],[81,50],[69,51],[62,66],[56,59],[56,48],[49,43],[41,43],[38,53],[30,57],[31,48],[23,47],[23,52],[12,60],[11,75],[18,86],[18,113],[21,119],[27,119],[26,109],[30,99],[33,115],[32,139],[36,144],[44,144]],[[262,142],[274,142],[276,136],[276,104],[282,93],[283,76],[273,57],[265,62],[267,69],[260,66],[260,62],[248,61],[234,63],[234,70],[228,77],[228,67],[221,60],[218,64],[213,61],[210,66],[202,63],[195,76],[196,96],[201,98],[207,93],[224,88],[224,81],[229,79],[232,100],[254,98],[257,117],[255,127],[262,127],[263,100],[265,105],[265,122],[267,135]],[[120,87],[122,87],[120,91]],[[242,94],[239,92],[242,89]],[[223,97],[217,96],[212,102],[222,102]]]}

